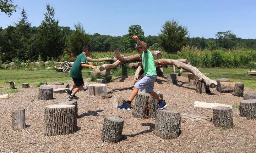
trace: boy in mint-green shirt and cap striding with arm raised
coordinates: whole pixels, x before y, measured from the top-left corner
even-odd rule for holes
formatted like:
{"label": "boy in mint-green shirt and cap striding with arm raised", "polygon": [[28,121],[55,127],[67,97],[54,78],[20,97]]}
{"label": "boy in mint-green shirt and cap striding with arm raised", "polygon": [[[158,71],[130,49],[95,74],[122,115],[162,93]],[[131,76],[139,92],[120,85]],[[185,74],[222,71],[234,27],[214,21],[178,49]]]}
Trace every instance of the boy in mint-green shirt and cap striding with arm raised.
{"label": "boy in mint-green shirt and cap striding with arm raised", "polygon": [[167,106],[166,102],[162,100],[162,98],[159,97],[156,92],[154,92],[154,82],[157,79],[157,71],[154,57],[152,53],[147,49],[147,44],[145,42],[141,41],[136,35],[132,36],[132,38],[137,41],[135,47],[138,53],[142,55],[144,74],[140,76],[140,81],[138,81],[134,85],[134,89],[132,91],[130,98],[117,108],[121,110],[130,110],[131,102],[134,99],[134,97],[138,94],[138,90],[142,91],[145,89],[146,93],[152,95],[154,98],[158,100],[159,106],[157,107],[157,109],[163,109],[165,106]]}

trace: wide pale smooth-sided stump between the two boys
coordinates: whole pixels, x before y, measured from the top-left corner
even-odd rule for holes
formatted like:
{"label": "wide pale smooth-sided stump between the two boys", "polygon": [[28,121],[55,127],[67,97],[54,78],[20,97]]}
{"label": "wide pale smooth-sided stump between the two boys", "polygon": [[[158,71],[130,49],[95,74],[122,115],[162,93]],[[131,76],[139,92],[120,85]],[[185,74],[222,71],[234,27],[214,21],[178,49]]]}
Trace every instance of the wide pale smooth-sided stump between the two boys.
{"label": "wide pale smooth-sided stump between the two boys", "polygon": [[89,95],[104,96],[108,94],[107,86],[105,84],[90,84],[88,90]]}

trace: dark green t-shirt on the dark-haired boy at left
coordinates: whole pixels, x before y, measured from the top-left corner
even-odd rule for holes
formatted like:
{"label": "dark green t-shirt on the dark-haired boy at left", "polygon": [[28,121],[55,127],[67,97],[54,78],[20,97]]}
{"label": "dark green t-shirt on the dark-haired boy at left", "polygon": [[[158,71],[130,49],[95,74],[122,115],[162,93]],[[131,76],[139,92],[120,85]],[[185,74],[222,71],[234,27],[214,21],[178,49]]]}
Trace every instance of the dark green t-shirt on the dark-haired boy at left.
{"label": "dark green t-shirt on the dark-haired boy at left", "polygon": [[85,54],[81,53],[80,55],[78,55],[76,57],[76,60],[71,68],[71,72],[70,72],[70,77],[72,78],[78,78],[78,79],[82,79],[82,72],[81,70],[83,69],[82,67],[82,63],[85,63],[86,61],[86,56]]}

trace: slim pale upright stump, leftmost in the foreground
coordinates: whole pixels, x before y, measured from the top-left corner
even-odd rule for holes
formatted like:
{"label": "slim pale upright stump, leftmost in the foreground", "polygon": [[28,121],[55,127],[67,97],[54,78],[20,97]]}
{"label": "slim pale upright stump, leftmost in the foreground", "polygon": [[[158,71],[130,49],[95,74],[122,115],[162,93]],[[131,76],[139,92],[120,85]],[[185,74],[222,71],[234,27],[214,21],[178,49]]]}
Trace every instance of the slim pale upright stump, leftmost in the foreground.
{"label": "slim pale upright stump, leftmost in the foreground", "polygon": [[25,108],[16,108],[12,110],[12,130],[21,130],[26,128]]}

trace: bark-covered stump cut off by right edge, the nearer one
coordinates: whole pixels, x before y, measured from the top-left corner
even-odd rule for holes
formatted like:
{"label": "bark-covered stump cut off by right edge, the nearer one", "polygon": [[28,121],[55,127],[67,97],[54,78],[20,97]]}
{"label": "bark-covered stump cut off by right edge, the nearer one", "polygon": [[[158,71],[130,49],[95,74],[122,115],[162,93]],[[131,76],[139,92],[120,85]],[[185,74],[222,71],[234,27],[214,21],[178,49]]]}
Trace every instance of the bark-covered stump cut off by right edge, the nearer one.
{"label": "bark-covered stump cut off by right edge, the nearer one", "polygon": [[239,112],[241,117],[256,119],[256,100],[243,100],[240,102]]}

